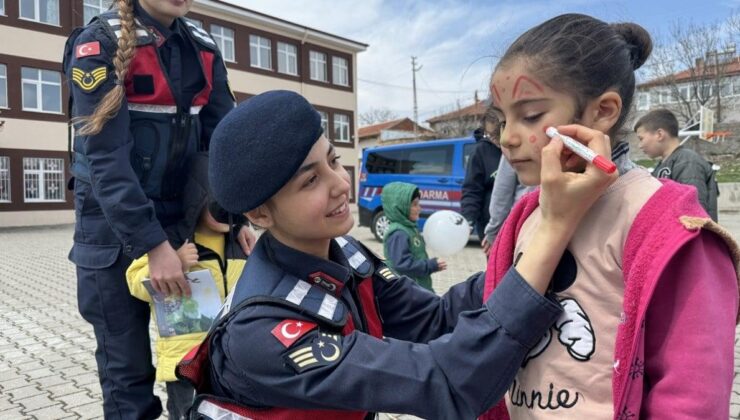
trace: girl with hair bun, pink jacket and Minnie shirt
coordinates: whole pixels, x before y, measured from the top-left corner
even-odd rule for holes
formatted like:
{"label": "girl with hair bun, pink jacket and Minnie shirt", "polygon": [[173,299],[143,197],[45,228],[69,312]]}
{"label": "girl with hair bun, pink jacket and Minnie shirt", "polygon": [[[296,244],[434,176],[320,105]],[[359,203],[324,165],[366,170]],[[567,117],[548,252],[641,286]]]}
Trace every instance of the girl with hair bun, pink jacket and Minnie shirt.
{"label": "girl with hair bun, pink jacket and Minnie shirt", "polygon": [[520,36],[492,76],[505,156],[542,192],[525,196],[499,233],[485,297],[537,240],[552,173],[593,170],[567,150],[546,160],[546,127],[579,140],[608,134],[619,179],[574,226],[555,271],[563,315],[484,418],[728,417],[737,245],[695,190],[652,178],[626,155],[634,70],[650,50],[636,24],[567,14]]}

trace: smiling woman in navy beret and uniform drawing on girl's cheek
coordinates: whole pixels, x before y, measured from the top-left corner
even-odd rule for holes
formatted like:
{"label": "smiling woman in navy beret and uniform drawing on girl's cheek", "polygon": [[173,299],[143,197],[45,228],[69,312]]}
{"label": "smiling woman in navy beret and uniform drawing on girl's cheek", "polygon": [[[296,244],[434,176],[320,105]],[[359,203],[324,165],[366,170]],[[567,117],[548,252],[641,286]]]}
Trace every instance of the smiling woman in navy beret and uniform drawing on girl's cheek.
{"label": "smiling woman in navy beret and uniform drawing on girl's cheek", "polygon": [[[603,135],[579,137],[608,156]],[[561,148],[553,142],[548,159]],[[210,159],[219,203],[267,232],[204,345],[178,367],[200,394],[194,412],[209,418],[483,413],[560,315],[542,294],[572,226],[616,179],[550,171],[536,240],[484,301],[482,273],[439,297],[346,236],[350,179],[300,95],[271,91],[239,105],[214,132]]]}

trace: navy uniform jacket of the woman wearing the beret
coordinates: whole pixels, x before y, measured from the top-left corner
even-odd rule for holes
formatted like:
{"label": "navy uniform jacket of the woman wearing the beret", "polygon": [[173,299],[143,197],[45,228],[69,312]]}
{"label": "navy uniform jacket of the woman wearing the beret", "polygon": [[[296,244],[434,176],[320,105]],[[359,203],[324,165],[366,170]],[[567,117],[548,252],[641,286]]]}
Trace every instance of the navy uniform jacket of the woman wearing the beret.
{"label": "navy uniform jacket of the woman wearing the beret", "polygon": [[[338,240],[362,247],[350,237]],[[352,313],[358,330],[342,336],[330,322],[318,322],[286,346],[276,330],[285,320],[316,323],[308,316],[311,309],[303,303],[278,305],[274,297],[252,297],[255,303],[235,311],[211,334],[213,394],[251,407],[472,419],[499,401],[529,349],[560,314],[557,304],[531,289],[514,269],[484,303],[483,273],[439,297],[408,277],[388,275],[375,259],[372,285],[385,336],[379,339],[363,332],[357,274],[337,240],[329,257],[304,254],[265,234],[235,293],[245,287],[276,293],[285,276],[310,279],[322,272],[344,285],[339,306]],[[304,301],[321,302],[316,289],[304,290]],[[236,303],[231,305],[234,310]],[[288,332],[295,331],[293,323]],[[310,358],[307,346],[320,355]]]}

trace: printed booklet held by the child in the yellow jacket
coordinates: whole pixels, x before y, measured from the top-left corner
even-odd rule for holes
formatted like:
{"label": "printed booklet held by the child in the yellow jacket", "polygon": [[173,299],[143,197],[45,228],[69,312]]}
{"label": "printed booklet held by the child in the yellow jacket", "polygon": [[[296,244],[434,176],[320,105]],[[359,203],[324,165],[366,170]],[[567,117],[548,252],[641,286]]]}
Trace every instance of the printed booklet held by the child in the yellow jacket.
{"label": "printed booklet held by the child in the yellow jacket", "polygon": [[152,296],[160,337],[208,331],[221,308],[221,298],[210,271],[193,271],[185,276],[192,291],[190,297],[165,296],[154,290],[150,279],[142,280]]}

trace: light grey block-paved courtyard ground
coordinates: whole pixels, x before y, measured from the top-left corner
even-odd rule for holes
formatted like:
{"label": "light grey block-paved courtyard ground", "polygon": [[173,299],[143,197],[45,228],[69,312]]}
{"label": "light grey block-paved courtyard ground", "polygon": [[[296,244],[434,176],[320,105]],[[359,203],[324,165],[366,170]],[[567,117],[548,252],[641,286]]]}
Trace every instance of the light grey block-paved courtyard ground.
{"label": "light grey block-paved courtyard ground", "polygon": [[[740,214],[720,217],[740,238]],[[382,252],[368,229],[352,234]],[[66,258],[71,238],[71,226],[0,230],[0,419],[102,418],[95,339],[77,313],[74,267]],[[434,276],[441,292],[485,267],[474,243],[448,260],[450,269]],[[735,354],[738,371],[738,345]],[[163,388],[155,392],[164,402]],[[740,420],[737,374],[730,414]]]}

